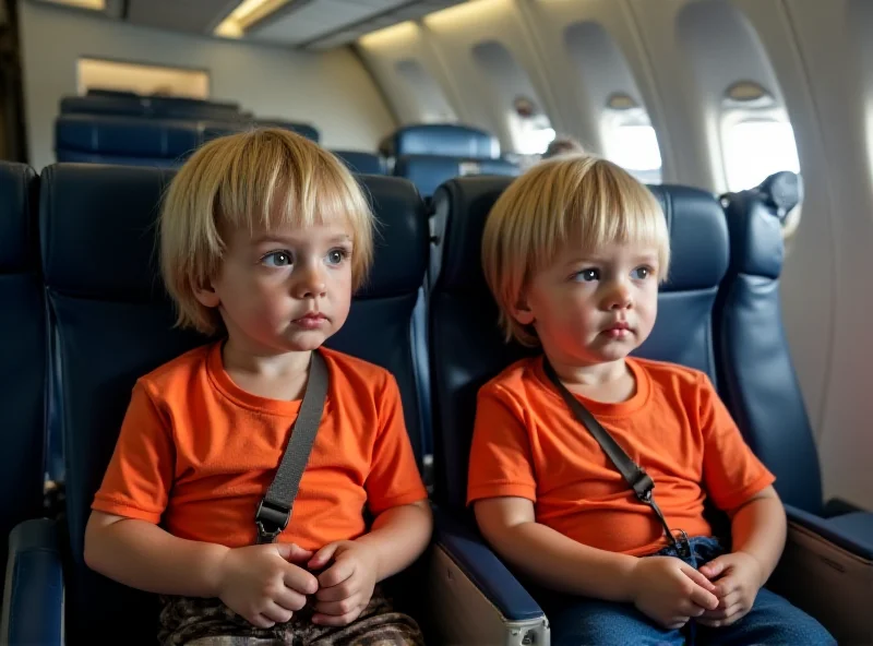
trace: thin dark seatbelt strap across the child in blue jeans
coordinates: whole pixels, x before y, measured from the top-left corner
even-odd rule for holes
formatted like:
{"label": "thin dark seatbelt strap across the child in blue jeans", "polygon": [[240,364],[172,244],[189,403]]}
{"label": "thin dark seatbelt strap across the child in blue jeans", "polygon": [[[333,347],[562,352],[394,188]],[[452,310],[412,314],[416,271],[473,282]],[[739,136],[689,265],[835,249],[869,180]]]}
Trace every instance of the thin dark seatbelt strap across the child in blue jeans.
{"label": "thin dark seatbelt strap across the child in blue jeans", "polygon": [[631,489],[634,490],[637,500],[651,507],[651,510],[658,516],[658,519],[663,526],[663,533],[667,535],[667,539],[670,541],[670,545],[677,549],[684,550],[685,546],[687,546],[687,535],[683,530],[679,530],[681,540],[684,545],[680,545],[675,536],[673,536],[669,525],[667,525],[667,519],[663,517],[661,510],[655,502],[655,481],[651,479],[651,477],[646,474],[645,469],[636,464],[621,446],[619,446],[619,443],[615,442],[614,438],[609,434],[609,431],[607,431],[603,426],[597,421],[597,418],[591,415],[591,411],[588,410],[582,404],[582,402],[579,402],[573,395],[573,393],[566,388],[563,383],[561,383],[561,380],[558,378],[558,373],[554,371],[554,368],[552,368],[549,359],[545,356],[542,357],[542,368],[546,370],[546,375],[549,378],[549,380],[551,380],[551,382],[558,388],[558,392],[564,398],[564,402],[566,402],[566,405],[573,411],[573,415],[576,417],[579,423],[588,429],[588,432],[594,435],[594,439],[597,440],[598,444],[600,444],[603,453],[607,454],[607,457],[609,457],[612,464],[615,465],[615,468],[619,469],[627,484],[630,484]]}

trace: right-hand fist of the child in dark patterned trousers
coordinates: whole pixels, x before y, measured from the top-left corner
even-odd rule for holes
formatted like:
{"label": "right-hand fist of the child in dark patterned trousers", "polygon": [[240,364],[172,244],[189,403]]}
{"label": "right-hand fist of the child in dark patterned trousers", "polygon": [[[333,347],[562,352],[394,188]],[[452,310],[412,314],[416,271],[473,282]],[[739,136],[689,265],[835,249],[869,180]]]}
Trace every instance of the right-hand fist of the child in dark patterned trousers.
{"label": "right-hand fist of the child in dark patterned trousers", "polygon": [[315,614],[312,622],[321,625],[348,625],[367,608],[373,596],[376,578],[376,557],[366,545],[340,540],[324,546],[309,562],[319,575]]}

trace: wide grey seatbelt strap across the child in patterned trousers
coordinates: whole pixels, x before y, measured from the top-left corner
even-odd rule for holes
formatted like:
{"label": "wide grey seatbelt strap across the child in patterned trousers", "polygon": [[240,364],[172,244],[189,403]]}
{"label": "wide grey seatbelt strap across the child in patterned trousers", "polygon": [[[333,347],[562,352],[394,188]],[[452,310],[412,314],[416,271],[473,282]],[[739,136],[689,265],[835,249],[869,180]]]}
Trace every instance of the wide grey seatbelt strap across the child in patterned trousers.
{"label": "wide grey seatbelt strap across the child in patterned trousers", "polygon": [[258,526],[258,545],[276,542],[278,535],[288,526],[294,512],[294,501],[300,479],[312,453],[319,433],[324,400],[327,397],[327,364],[319,350],[313,350],[309,364],[309,381],[300,404],[300,412],[291,427],[291,439],[285,447],[273,483],[266,490],[254,523]]}

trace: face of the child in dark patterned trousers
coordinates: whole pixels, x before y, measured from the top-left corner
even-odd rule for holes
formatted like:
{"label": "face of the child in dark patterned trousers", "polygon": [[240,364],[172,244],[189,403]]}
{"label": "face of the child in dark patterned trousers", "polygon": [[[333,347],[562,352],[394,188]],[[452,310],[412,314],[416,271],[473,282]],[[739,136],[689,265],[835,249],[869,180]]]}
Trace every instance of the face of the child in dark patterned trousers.
{"label": "face of the child in dark patterned trousers", "polygon": [[313,350],[343,326],[351,302],[351,229],[344,222],[225,232],[206,291],[232,343],[255,354]]}

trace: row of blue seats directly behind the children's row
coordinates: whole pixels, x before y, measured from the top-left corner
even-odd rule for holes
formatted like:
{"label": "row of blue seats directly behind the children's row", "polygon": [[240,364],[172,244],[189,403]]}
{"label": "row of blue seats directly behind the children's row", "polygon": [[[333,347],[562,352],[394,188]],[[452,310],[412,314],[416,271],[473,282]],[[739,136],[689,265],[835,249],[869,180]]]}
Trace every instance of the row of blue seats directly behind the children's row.
{"label": "row of blue seats directly behind the children's row", "polygon": [[[253,125],[284,128],[320,140],[319,130],[308,123],[244,118],[224,104],[203,107],[183,103],[176,111],[139,113],[135,110],[141,101],[181,99],[137,99],[133,108],[131,100],[115,96],[64,98],[55,122],[57,160],[176,168],[204,143]],[[383,142],[379,154],[332,152],[355,172],[405,177],[426,199],[453,177],[518,174],[516,164],[500,157],[495,136],[457,124],[400,128]]]}

